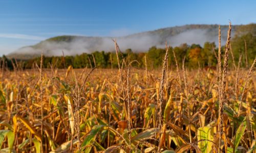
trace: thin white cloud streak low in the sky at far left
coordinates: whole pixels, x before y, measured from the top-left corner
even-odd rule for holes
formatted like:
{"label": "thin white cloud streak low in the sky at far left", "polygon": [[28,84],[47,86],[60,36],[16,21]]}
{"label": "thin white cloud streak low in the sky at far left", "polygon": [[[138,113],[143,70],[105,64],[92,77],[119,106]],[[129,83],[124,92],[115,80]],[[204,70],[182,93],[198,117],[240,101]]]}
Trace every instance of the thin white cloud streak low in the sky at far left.
{"label": "thin white cloud streak low in the sky at far left", "polygon": [[28,40],[44,40],[45,37],[23,35],[23,34],[3,34],[0,33],[0,38],[28,39]]}

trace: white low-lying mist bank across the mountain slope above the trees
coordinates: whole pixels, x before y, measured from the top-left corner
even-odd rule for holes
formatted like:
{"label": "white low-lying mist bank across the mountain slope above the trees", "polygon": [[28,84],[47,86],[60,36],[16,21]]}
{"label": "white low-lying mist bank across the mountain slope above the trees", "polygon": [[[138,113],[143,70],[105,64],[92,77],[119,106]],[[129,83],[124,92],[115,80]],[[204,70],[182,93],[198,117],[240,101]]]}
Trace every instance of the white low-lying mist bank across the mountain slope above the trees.
{"label": "white low-lying mist bank across the mountain slope above the trees", "polygon": [[[226,30],[222,30],[222,36],[226,36]],[[75,37],[69,42],[61,41],[42,41],[35,46],[27,46],[15,51],[16,54],[34,54],[40,55],[41,52],[45,56],[61,56],[62,51],[65,55],[79,55],[82,53],[92,53],[96,50],[112,52],[115,50],[114,42],[111,37]],[[124,51],[131,48],[133,52],[146,52],[152,46],[164,47],[165,41],[171,46],[179,46],[182,43],[189,45],[195,43],[203,44],[215,42],[218,44],[218,29],[212,31],[209,29],[193,29],[170,36],[167,34],[140,33],[126,37],[117,37],[117,43]],[[225,43],[225,37],[222,37],[222,45]]]}

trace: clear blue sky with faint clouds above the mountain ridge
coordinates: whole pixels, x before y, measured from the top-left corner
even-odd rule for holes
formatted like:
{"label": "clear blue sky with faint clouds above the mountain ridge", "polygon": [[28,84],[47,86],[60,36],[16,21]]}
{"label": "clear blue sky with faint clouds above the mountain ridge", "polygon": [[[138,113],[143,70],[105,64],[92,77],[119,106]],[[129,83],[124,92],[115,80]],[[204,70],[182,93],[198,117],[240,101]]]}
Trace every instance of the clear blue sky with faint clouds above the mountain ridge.
{"label": "clear blue sky with faint clouds above the mountain ridge", "polygon": [[248,24],[256,1],[0,0],[0,56],[59,35],[123,36],[184,24]]}

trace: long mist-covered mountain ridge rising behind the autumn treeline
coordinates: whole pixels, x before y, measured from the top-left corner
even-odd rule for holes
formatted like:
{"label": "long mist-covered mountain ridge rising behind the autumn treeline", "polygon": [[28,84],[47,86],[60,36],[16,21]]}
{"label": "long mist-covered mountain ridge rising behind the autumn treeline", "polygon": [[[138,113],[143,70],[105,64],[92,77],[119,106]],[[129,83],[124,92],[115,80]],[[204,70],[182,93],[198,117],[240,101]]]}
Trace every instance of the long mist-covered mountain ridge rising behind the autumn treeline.
{"label": "long mist-covered mountain ridge rising behind the autumn treeline", "polygon": [[[251,24],[256,27],[256,24]],[[243,29],[247,25],[250,24],[232,25],[232,36],[238,29]],[[179,46],[182,43],[203,45],[206,41],[217,43],[218,27],[218,24],[186,24],[116,37],[116,39],[121,50],[132,48],[134,52],[146,52],[152,46],[164,47],[166,41],[172,46]],[[227,29],[228,25],[221,25],[222,44],[225,43]],[[111,52],[115,49],[112,38],[114,37],[56,36],[35,45],[21,47],[7,56],[29,59],[40,56],[41,52],[45,56],[60,56],[62,51],[65,55],[92,53],[96,50]]]}

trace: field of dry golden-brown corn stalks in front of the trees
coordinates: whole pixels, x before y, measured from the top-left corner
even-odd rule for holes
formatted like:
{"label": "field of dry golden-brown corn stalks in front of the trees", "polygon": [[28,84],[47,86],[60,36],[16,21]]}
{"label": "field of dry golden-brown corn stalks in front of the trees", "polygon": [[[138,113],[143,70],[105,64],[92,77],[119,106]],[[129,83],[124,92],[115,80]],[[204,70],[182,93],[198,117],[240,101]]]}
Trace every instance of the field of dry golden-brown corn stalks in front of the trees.
{"label": "field of dry golden-brown corn stalks in front of the trees", "polygon": [[256,59],[228,51],[217,70],[168,67],[166,47],[159,70],[1,71],[0,152],[256,152]]}

